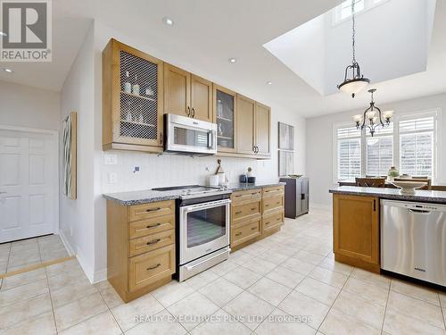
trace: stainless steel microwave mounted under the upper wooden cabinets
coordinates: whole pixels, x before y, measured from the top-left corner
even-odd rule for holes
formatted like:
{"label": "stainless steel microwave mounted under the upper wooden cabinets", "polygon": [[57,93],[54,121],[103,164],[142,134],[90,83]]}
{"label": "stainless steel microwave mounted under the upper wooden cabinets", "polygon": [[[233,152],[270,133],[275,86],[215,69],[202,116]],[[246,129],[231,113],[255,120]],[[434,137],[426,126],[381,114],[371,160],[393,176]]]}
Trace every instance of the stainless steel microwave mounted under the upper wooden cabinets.
{"label": "stainless steel microwave mounted under the upper wooden cabinets", "polygon": [[188,154],[217,154],[217,124],[165,114],[165,150]]}

